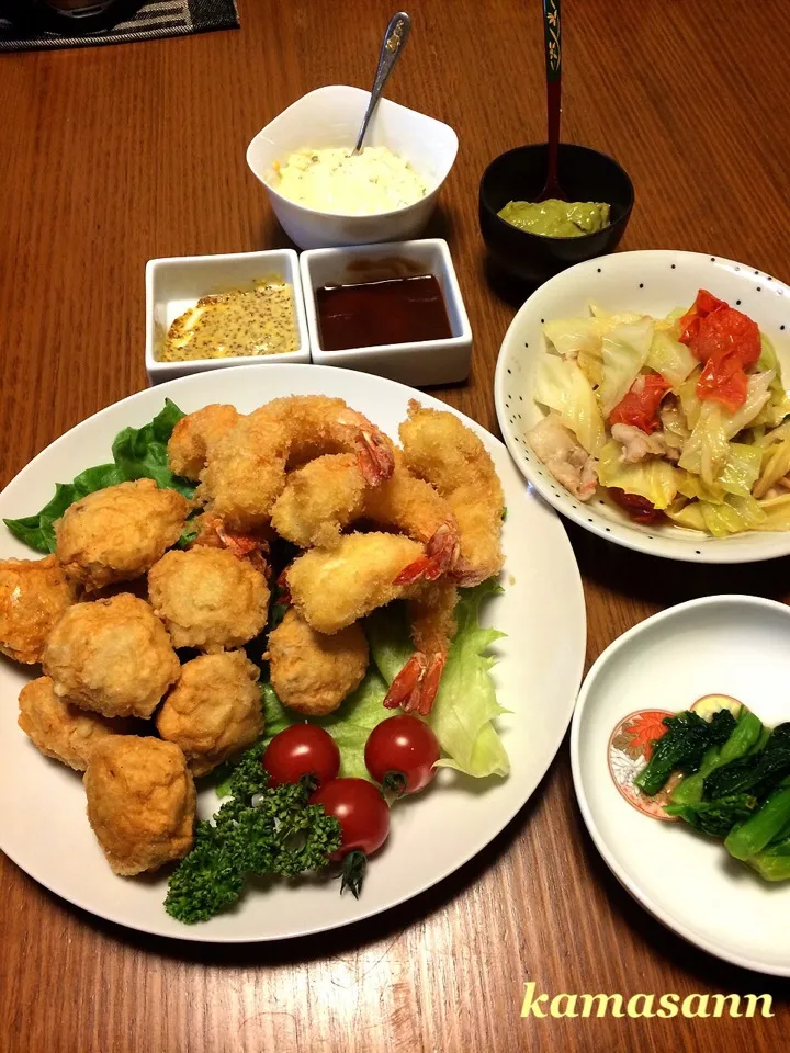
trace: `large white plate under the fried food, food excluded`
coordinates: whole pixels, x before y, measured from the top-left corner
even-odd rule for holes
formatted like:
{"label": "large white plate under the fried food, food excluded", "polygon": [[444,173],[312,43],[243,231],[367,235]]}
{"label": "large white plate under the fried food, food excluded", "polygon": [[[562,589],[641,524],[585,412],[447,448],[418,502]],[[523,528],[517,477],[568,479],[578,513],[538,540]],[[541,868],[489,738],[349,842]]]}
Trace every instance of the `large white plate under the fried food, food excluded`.
{"label": "large white plate under the fried food, food excluded", "polygon": [[[38,510],[56,482],[110,460],[114,435],[139,427],[165,397],[192,411],[208,403],[239,410],[282,395],[341,396],[393,438],[410,398],[442,403],[392,381],[316,365],[238,366],[195,374],[132,395],[82,421],[41,453],[0,496],[0,516]],[[461,416],[461,415],[458,415]],[[505,591],[484,609],[486,624],[507,633],[493,653],[497,697],[511,711],[498,718],[512,771],[505,780],[476,782],[441,771],[433,786],[397,805],[384,849],[369,868],[362,896],[340,896],[338,883],[305,882],[250,893],[239,908],[187,927],[162,907],[165,879],[116,878],[86,818],[80,777],[36,751],[16,726],[15,698],[36,670],[0,665],[0,848],[24,871],[65,899],[146,932],[191,940],[241,942],[303,936],[370,917],[430,887],[492,840],[529,800],[556,754],[582,678],[585,609],[576,561],[560,519],[526,486],[507,451],[474,421],[505,489]],[[11,534],[0,535],[0,556],[35,557]],[[200,811],[214,811],[213,793]]]}

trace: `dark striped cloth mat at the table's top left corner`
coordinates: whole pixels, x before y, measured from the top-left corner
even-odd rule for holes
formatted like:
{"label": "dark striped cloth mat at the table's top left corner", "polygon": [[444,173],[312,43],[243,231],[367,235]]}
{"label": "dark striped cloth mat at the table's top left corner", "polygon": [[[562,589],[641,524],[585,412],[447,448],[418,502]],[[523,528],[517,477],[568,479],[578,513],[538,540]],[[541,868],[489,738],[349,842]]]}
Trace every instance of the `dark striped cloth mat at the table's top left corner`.
{"label": "dark striped cloth mat at the table's top left corner", "polygon": [[210,30],[238,29],[236,0],[150,0],[137,12],[109,29],[68,34],[21,26],[0,16],[0,52],[40,48],[87,47],[98,44],[129,44],[166,36],[189,36]]}

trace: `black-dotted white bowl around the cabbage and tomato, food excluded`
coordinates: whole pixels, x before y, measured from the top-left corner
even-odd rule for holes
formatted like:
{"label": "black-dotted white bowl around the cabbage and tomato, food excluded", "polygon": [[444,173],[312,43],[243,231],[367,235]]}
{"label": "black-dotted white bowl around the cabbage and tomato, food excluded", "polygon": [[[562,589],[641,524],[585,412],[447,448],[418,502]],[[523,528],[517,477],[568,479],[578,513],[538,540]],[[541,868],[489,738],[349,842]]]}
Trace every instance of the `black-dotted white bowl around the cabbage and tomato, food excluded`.
{"label": "black-dotted white bowl around the cabbage and tomato, food excluded", "polygon": [[634,523],[598,497],[578,501],[534,455],[526,438],[543,416],[532,399],[542,324],[586,315],[594,299],[612,310],[663,316],[691,304],[699,288],[749,315],[774,341],[787,383],[790,377],[790,288],[761,271],[732,260],[668,249],[618,252],[563,271],[521,307],[505,335],[494,381],[497,418],[516,464],[550,505],[606,541],[637,552],[691,563],[751,563],[790,553],[790,531],[711,537],[674,524]]}

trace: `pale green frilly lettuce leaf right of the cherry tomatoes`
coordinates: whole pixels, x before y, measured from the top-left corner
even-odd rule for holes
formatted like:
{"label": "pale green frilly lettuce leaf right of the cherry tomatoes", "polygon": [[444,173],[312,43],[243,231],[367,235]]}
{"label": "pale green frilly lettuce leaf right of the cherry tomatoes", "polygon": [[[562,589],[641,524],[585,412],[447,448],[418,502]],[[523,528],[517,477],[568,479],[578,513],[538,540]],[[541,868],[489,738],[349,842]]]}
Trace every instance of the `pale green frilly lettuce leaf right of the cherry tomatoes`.
{"label": "pale green frilly lettuce leaf right of the cherry tomatoes", "polygon": [[[510,762],[493,721],[507,712],[496,701],[490,668],[496,659],[486,655],[490,645],[504,636],[479,624],[479,607],[486,597],[500,592],[489,578],[473,589],[461,589],[455,609],[458,632],[428,723],[433,728],[444,756],[439,767],[455,768],[467,775],[506,775]],[[399,627],[392,607],[375,611],[365,620],[371,654],[379,671],[392,683],[414,650],[402,614]]]}

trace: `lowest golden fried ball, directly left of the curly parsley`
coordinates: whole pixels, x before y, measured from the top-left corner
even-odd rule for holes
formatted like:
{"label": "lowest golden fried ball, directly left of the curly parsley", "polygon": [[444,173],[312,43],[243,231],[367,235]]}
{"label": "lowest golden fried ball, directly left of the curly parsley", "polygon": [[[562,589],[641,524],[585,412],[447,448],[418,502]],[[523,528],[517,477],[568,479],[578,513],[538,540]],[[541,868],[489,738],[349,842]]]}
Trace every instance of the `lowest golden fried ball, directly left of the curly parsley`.
{"label": "lowest golden fried ball, directly left of the curly parsley", "polygon": [[88,819],[116,874],[158,870],[192,848],[195,788],[172,743],[111,735],[84,774]]}

